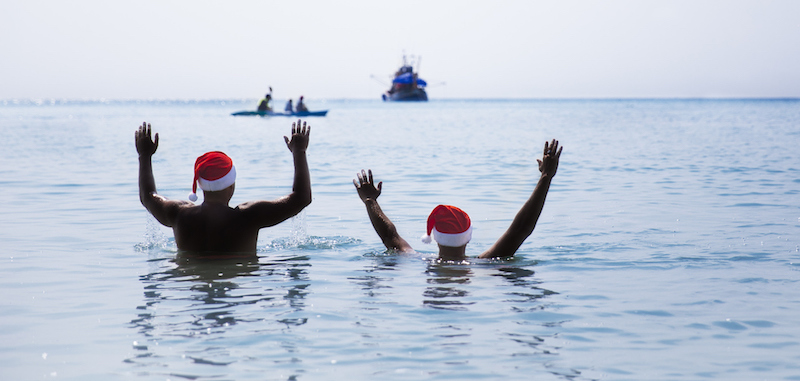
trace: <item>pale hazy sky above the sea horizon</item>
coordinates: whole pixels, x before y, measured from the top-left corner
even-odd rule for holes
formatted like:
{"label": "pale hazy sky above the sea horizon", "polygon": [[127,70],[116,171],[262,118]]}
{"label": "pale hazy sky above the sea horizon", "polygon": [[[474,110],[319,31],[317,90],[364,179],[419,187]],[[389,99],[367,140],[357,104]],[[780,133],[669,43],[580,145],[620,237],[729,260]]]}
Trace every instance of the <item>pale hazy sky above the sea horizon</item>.
{"label": "pale hazy sky above the sea horizon", "polygon": [[[0,99],[799,97],[800,1],[3,1]],[[444,84],[442,84],[444,83]]]}

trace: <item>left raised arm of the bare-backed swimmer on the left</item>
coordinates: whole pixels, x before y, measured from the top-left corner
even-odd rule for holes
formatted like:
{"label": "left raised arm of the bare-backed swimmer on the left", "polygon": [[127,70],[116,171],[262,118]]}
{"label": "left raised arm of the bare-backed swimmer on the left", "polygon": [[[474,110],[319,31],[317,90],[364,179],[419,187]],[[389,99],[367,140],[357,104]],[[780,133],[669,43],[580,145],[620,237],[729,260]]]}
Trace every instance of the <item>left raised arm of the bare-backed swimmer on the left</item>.
{"label": "left raised arm of the bare-backed swimmer on the left", "polygon": [[139,200],[142,205],[158,220],[172,226],[181,205],[191,205],[188,201],[170,201],[156,192],[156,180],[153,177],[153,154],[158,149],[158,134],[152,139],[150,124],[142,123],[134,134],[136,152],[139,153]]}

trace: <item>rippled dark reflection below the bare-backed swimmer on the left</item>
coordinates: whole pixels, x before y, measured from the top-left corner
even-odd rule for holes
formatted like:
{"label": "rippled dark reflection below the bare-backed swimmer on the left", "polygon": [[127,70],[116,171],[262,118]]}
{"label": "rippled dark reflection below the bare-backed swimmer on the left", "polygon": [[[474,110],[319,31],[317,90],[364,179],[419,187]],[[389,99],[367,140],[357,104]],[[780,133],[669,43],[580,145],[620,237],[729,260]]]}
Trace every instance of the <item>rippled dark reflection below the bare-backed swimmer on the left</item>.
{"label": "rippled dark reflection below the bare-backed swimmer on the left", "polygon": [[[178,256],[153,261],[155,271],[140,276],[144,299],[129,325],[144,340],[133,343],[136,353],[128,363],[174,367],[181,361],[177,356],[189,364],[227,366],[240,358],[219,340],[246,341],[255,332],[281,331],[307,321],[291,316],[306,307],[311,266],[306,256],[265,263],[255,256],[230,260]],[[278,346],[292,351],[291,346]],[[194,373],[196,369],[191,372],[170,374],[201,377]]]}

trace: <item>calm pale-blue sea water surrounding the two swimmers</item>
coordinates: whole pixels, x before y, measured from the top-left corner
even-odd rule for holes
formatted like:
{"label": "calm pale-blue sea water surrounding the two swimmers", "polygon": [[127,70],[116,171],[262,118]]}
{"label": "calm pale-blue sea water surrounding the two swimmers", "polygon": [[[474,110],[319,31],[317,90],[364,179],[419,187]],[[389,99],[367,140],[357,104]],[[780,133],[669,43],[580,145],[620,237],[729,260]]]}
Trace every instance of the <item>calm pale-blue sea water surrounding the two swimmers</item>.
{"label": "calm pale-blue sea water surrounding the two swimmers", "polygon": [[[278,102],[279,104],[282,104]],[[141,206],[222,150],[233,204],[289,192],[291,119],[255,101],[0,102],[2,380],[800,380],[800,101],[314,101],[313,203],[258,261],[181,262]],[[437,204],[468,254],[564,147],[511,260],[438,263]],[[418,255],[386,253],[352,179]]]}

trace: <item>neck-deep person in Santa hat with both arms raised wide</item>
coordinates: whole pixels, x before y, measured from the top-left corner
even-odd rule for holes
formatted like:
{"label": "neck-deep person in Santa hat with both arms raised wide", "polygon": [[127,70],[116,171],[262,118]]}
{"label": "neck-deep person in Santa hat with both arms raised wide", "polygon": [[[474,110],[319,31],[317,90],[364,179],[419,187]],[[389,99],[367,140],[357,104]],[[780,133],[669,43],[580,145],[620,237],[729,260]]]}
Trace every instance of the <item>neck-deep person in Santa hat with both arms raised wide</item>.
{"label": "neck-deep person in Santa hat with both arms raised wide", "polygon": [[[508,230],[478,258],[512,257],[525,239],[531,235],[536,221],[542,214],[550,182],[558,169],[558,160],[561,157],[562,149],[563,147],[559,147],[558,141],[555,139],[549,144],[544,143],[542,160],[536,160],[539,163],[541,175],[533,193],[517,212],[517,216],[514,217]],[[414,252],[411,245],[397,233],[397,228],[378,204],[378,196],[381,195],[383,182],[379,182],[377,187],[375,186],[372,170],[365,172],[362,169],[357,177],[358,181],[353,180],[353,185],[356,186],[358,196],[367,207],[367,215],[372,222],[372,227],[375,228],[375,232],[378,233],[386,248],[401,253]],[[428,216],[427,225],[427,234],[423,237],[423,242],[430,242],[431,235],[433,236],[439,246],[440,260],[460,262],[466,259],[467,243],[472,238],[472,224],[467,213],[451,205],[439,205]]]}

